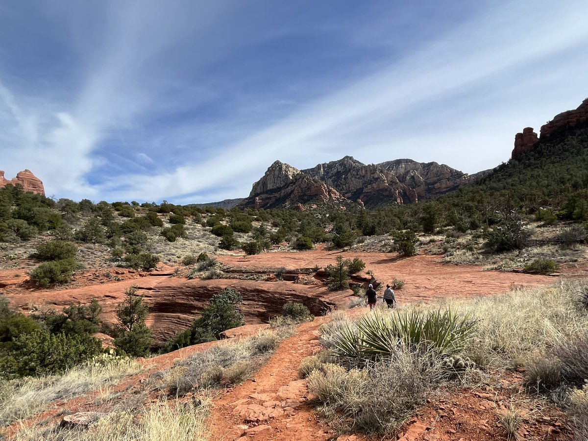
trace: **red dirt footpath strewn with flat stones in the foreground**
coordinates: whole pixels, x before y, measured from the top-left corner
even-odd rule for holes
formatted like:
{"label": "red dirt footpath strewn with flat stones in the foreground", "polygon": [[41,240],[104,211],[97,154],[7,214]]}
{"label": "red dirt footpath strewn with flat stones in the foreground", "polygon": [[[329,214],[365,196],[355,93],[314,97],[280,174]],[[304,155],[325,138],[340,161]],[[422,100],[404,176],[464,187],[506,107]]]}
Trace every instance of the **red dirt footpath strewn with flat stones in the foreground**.
{"label": "red dirt footpath strewn with flat stones in the foreground", "polygon": [[306,356],[320,350],[318,328],[322,318],[305,323],[284,340],[258,372],[225,396],[215,400],[211,441],[328,440],[333,431],[309,404],[306,381],[298,367]]}

